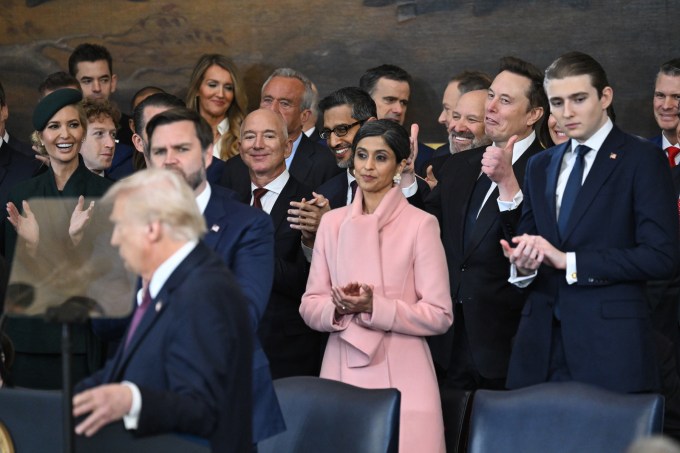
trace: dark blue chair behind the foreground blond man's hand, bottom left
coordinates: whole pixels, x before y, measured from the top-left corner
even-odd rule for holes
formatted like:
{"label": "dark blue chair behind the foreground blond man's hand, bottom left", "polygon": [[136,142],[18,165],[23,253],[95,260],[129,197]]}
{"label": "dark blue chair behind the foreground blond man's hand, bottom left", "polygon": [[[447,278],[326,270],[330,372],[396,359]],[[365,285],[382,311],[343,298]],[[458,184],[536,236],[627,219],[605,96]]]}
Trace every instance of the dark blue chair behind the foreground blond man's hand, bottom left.
{"label": "dark blue chair behind the foreground blond man's hand, bottom left", "polygon": [[[17,452],[63,452],[61,392],[0,390],[0,422]],[[136,438],[122,422],[102,428],[95,436],[76,436],[76,453],[208,453],[210,448],[188,436],[164,434]],[[3,450],[4,452],[4,450]]]}

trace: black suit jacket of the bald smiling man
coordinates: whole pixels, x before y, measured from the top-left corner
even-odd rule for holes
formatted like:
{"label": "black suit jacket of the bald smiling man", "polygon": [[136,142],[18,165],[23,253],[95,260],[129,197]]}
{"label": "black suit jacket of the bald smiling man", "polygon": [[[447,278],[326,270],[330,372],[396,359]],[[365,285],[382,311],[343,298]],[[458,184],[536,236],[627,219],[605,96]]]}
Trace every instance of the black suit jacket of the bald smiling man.
{"label": "black suit jacket of the bald smiling man", "polygon": [[[227,161],[225,175],[230,167],[242,165]],[[236,173],[231,179],[239,199],[250,204],[250,179],[244,181]],[[311,189],[293,176],[283,188],[270,213],[274,223],[274,285],[269,305],[260,322],[259,335],[269,358],[272,377],[318,375],[321,360],[321,336],[311,330],[299,313],[300,300],[307,286],[309,265],[301,247],[300,232],[290,228],[286,220],[291,201],[311,197]]]}

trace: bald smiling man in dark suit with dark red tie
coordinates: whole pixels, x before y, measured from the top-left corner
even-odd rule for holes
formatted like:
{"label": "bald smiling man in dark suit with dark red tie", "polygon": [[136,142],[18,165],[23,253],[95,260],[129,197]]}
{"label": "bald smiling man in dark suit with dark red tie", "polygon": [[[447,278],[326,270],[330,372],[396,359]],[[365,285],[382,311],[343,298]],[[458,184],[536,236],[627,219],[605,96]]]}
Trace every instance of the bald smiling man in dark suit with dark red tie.
{"label": "bald smiling man in dark suit with dark red tie", "polygon": [[242,202],[268,213],[274,222],[274,285],[259,328],[274,379],[318,375],[322,354],[320,334],[307,327],[298,311],[309,273],[302,245],[313,247],[313,238],[291,228],[288,210],[291,202],[313,197],[311,189],[286,170],[291,146],[281,115],[259,109],[241,126],[240,158],[227,161],[227,167],[232,161],[239,162],[249,175],[247,180],[229,180],[228,187]]}

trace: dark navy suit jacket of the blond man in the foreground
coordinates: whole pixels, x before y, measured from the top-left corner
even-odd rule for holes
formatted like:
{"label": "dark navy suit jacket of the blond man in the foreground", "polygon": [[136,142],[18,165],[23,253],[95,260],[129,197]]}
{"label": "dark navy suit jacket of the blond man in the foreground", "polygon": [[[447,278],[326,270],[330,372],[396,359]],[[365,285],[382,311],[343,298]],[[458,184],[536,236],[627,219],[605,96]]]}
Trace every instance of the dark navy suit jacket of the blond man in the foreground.
{"label": "dark navy suit jacket of the blond man in the foreground", "polygon": [[133,382],[142,395],[137,434],[182,432],[209,438],[215,452],[250,451],[247,304],[222,260],[199,243],[151,302],[128,347],[77,391]]}

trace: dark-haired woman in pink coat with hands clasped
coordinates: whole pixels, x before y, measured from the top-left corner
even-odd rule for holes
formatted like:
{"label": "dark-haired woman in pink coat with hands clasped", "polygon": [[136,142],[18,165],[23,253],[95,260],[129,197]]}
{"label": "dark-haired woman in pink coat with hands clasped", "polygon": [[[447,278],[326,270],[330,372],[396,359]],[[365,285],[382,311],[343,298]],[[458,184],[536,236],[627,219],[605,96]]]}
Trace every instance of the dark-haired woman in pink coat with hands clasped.
{"label": "dark-haired woman in pink coat with hands clasped", "polygon": [[453,322],[437,220],[411,206],[393,180],[409,137],[388,120],[367,122],[353,143],[351,205],[324,214],[300,314],[331,332],[321,377],[401,391],[399,451],[444,452],[437,379],[425,337]]}

